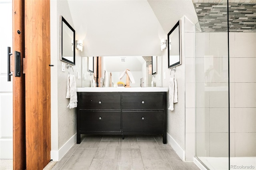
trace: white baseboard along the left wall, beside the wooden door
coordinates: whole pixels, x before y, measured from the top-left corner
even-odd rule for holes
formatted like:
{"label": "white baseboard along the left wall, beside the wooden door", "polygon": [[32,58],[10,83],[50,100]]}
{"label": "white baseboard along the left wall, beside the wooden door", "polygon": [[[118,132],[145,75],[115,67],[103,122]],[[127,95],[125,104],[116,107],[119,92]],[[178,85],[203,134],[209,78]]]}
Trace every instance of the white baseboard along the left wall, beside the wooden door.
{"label": "white baseboard along the left wall, beside the wooden door", "polygon": [[76,134],[74,134],[74,136],[72,136],[59,150],[51,150],[51,159],[53,161],[60,161],[74,143],[76,143]]}

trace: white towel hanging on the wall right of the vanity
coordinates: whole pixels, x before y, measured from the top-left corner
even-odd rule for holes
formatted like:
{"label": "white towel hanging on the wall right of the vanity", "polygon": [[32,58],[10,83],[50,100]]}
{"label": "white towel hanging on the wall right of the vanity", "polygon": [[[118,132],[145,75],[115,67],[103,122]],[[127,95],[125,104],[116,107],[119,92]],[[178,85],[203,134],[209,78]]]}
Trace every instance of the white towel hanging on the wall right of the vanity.
{"label": "white towel hanging on the wall right of the vanity", "polygon": [[174,110],[174,103],[178,103],[178,87],[175,75],[169,80],[169,110]]}

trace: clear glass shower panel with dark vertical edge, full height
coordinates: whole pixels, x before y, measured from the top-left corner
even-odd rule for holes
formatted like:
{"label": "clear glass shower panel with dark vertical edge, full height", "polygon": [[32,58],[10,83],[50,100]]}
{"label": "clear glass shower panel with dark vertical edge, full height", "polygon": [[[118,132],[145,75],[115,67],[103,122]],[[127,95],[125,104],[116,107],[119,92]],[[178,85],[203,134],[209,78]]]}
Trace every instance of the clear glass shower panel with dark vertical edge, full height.
{"label": "clear glass shower panel with dark vertical edge, full height", "polygon": [[203,16],[196,24],[196,157],[209,169],[228,170],[227,1],[194,5]]}

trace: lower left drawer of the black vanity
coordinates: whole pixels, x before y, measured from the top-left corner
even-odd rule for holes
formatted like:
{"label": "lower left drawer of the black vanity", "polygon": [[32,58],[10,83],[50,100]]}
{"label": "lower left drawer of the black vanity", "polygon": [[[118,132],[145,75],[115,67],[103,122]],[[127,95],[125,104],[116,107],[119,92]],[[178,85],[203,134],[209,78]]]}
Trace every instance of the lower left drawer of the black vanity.
{"label": "lower left drawer of the black vanity", "polygon": [[80,111],[81,131],[121,131],[120,111]]}

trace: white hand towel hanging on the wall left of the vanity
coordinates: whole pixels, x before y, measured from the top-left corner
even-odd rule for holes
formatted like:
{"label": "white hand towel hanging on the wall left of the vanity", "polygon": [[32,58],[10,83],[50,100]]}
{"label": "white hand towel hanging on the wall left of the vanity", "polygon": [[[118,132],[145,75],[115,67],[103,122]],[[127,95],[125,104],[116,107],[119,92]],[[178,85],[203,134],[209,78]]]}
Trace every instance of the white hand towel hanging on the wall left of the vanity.
{"label": "white hand towel hanging on the wall left of the vanity", "polygon": [[66,98],[70,98],[68,107],[73,109],[77,107],[77,94],[76,94],[76,77],[75,75],[68,74],[68,86]]}

